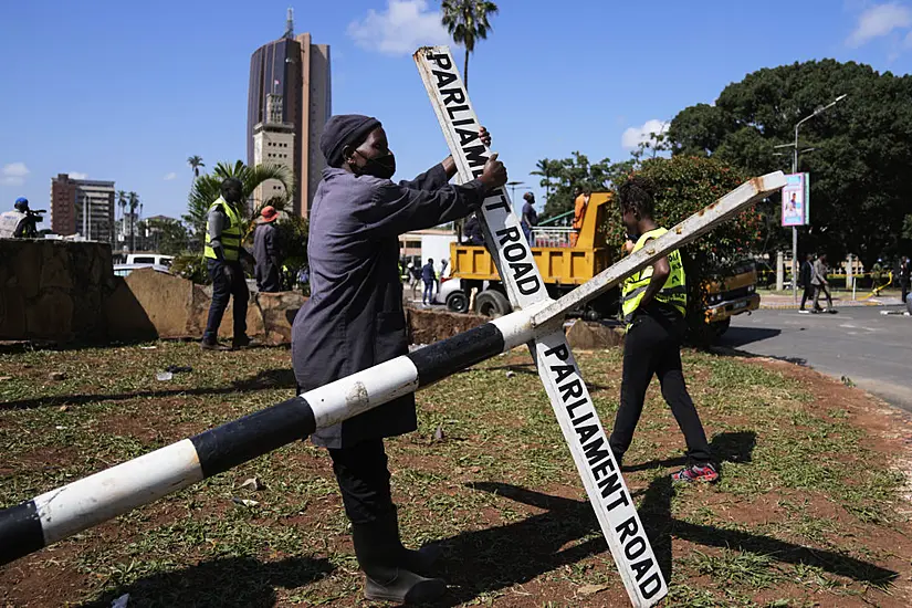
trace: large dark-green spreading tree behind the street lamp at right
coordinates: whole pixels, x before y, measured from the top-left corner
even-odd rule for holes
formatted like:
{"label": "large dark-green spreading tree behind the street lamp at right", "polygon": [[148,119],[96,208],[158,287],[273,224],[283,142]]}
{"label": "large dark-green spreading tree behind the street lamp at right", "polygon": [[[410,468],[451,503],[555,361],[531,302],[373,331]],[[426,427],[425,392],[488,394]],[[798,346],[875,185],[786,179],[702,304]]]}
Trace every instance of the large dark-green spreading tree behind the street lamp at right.
{"label": "large dark-green spreading tree behind the street lamp at right", "polygon": [[[799,170],[810,172],[806,250],[835,260],[857,254],[867,268],[903,247],[912,180],[912,76],[855,62],[809,61],[747,74],[715,104],[688,107],[671,123],[678,155],[717,157],[749,175],[792,168],[795,125],[838,95],[848,97],[801,125]],[[764,240],[790,248],[779,211],[765,216]]]}

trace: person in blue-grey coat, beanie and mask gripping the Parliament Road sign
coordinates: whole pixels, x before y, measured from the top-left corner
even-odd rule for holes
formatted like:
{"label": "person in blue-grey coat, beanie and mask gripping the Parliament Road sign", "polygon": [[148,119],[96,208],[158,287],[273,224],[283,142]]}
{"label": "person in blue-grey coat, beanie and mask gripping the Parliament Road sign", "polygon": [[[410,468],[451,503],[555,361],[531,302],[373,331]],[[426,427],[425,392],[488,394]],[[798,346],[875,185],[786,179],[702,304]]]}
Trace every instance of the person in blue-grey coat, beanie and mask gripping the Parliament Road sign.
{"label": "person in blue-grey coat, beanie and mask gripping the Parliament Road sign", "polygon": [[[490,145],[484,129],[479,138]],[[496,155],[462,186],[448,184],[457,172],[452,158],[412,181],[390,181],[396,159],[382,125],[368,116],[333,116],[319,148],[327,167],[311,207],[311,297],[292,327],[301,391],[408,353],[399,235],[464,218],[506,182]],[[390,493],[384,439],[416,428],[408,392],[312,436],[333,460],[367,599],[417,604],[445,593],[442,580],[426,577],[433,555],[402,546]]]}

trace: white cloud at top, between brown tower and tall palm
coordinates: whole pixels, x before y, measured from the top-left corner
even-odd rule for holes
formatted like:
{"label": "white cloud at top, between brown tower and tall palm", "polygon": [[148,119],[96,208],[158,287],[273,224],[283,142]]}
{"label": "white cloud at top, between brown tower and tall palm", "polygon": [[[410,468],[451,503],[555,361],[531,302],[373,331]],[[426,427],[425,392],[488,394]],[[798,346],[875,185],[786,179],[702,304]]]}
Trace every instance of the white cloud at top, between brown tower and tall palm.
{"label": "white cloud at top, between brown tower and tall palm", "polygon": [[440,12],[428,10],[427,0],[388,0],[386,11],[370,9],[364,19],[349,23],[348,36],[363,49],[387,55],[408,55],[419,46],[450,41]]}

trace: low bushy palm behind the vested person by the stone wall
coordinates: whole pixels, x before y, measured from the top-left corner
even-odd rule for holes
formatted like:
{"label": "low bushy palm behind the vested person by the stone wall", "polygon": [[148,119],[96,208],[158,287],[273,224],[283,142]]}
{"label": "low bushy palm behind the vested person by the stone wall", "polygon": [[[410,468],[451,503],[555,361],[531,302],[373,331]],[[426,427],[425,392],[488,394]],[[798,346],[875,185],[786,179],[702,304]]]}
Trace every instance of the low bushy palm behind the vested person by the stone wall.
{"label": "low bushy palm behind the vested person by the stone wall", "polygon": [[250,199],[258,186],[269,179],[277,179],[284,187],[282,196],[272,197],[255,208],[249,209],[247,226],[242,227],[247,233],[260,210],[266,205],[273,206],[276,211],[284,211],[294,192],[294,174],[291,169],[282,165],[256,165],[248,167],[241,160],[233,165],[219,163],[211,174],[202,175],[193,181],[190,197],[187,201],[187,214],[184,221],[189,226],[197,238],[202,239],[206,230],[206,218],[209,214],[209,207],[221,196],[221,182],[223,179],[233,177],[241,180],[243,185],[242,196],[244,200]]}

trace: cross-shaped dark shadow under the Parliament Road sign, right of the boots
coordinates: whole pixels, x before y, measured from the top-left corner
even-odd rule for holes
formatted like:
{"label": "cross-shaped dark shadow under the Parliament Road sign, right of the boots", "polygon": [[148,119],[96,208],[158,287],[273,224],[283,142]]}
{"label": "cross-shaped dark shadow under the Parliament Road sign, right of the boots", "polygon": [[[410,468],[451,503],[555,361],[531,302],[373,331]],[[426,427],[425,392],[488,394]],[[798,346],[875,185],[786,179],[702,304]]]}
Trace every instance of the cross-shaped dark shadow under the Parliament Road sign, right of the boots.
{"label": "cross-shaped dark shadow under the Parliament Road sign, right of the boots", "polygon": [[[755,442],[756,434],[753,432],[721,433],[714,438],[713,448],[723,462],[749,462]],[[653,461],[631,469],[677,463],[677,460]],[[444,548],[443,574],[452,589],[436,606],[449,607],[472,601],[482,594],[528,583],[560,566],[608,551],[588,502],[551,496],[505,483],[472,483],[469,488],[545,510],[545,513],[441,541]],[[899,576],[893,570],[832,551],[674,520],[671,516],[673,492],[670,476],[657,478],[641,492],[643,500],[638,510],[667,580],[671,580],[672,575],[672,538],[771,555],[778,562],[819,567],[864,584],[883,585]],[[575,542],[578,544],[574,545]],[[567,545],[572,546],[562,548]]]}

